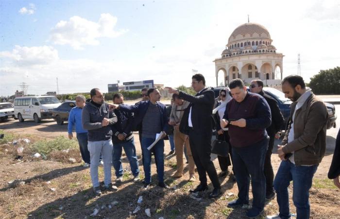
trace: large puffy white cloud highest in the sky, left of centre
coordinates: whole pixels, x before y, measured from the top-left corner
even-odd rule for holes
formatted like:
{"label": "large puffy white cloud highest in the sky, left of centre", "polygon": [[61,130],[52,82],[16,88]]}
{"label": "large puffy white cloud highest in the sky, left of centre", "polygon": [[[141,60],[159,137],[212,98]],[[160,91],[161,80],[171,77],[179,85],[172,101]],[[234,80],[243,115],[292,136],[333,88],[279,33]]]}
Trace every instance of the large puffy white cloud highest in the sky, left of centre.
{"label": "large puffy white cloud highest in the sky, left of centre", "polygon": [[74,49],[84,49],[84,45],[99,45],[100,37],[118,37],[128,30],[114,30],[117,17],[101,14],[99,21],[93,22],[79,16],[73,16],[68,21],[59,21],[51,29],[50,40],[59,45],[70,45]]}

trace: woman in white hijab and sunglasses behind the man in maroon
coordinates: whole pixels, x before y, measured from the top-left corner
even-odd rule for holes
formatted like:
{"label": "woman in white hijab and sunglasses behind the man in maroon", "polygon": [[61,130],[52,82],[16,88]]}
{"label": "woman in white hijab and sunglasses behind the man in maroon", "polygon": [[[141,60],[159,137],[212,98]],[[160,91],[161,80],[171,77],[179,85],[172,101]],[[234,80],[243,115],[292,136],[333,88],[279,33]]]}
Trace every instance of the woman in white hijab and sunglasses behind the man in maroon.
{"label": "woman in white hijab and sunglasses behind the man in maroon", "polygon": [[[226,109],[226,105],[231,100],[231,96],[228,89],[222,89],[220,90],[220,98],[221,101],[219,101],[216,105],[216,108],[213,110],[213,116],[215,119],[215,129],[217,131],[216,138],[219,140],[224,140],[229,143],[229,135],[228,135],[228,128],[221,128],[220,121],[223,118],[224,111]],[[230,155],[230,156],[229,156]],[[217,156],[219,160],[219,164],[221,167],[221,173],[219,174],[220,177],[225,177],[228,175],[228,166],[230,166],[232,163],[230,161],[230,157],[232,158],[232,152],[231,152],[231,146],[229,143],[229,154],[227,157],[221,157]],[[234,168],[233,168],[234,172]],[[235,175],[235,174],[234,174]],[[233,178],[235,180],[235,178]]]}

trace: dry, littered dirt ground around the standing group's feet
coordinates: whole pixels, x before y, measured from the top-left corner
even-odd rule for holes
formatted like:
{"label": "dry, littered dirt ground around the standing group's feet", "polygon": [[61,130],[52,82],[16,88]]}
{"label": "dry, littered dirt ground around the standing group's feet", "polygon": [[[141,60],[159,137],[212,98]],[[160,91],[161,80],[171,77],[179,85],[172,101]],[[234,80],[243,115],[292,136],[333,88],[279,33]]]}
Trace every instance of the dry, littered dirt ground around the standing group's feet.
{"label": "dry, littered dirt ground around the standing group's feet", "polygon": [[[19,135],[53,139],[56,136],[67,136],[67,125],[58,126],[53,120],[45,120],[40,124],[34,121],[19,123],[17,120],[8,120],[0,123],[0,129]],[[339,128],[331,130],[327,134],[327,151],[323,162],[319,165],[315,174],[312,189],[310,190],[311,217],[312,219],[339,219],[340,191],[336,189],[330,180],[327,180],[327,172],[332,159],[335,145],[335,137]],[[141,164],[141,151],[138,136],[135,134],[135,143],[141,170],[141,180],[144,178]],[[279,144],[280,141],[276,141]],[[0,148],[1,150],[1,148]],[[165,154],[170,151],[169,142],[165,142]],[[142,188],[142,183],[133,183],[129,171],[129,164],[125,156],[122,162],[124,166],[124,181],[117,184],[119,191],[107,192],[101,197],[95,197],[92,193],[92,185],[89,176],[89,168],[82,164],[68,164],[54,160],[27,159],[21,163],[14,159],[14,155],[0,156],[0,219],[5,218],[92,218],[90,216],[97,208],[99,213],[95,218],[112,219],[142,219],[147,218],[144,213],[150,208],[153,219],[242,219],[246,218],[246,209],[227,208],[228,201],[236,199],[237,184],[233,182],[231,175],[220,178],[222,195],[218,199],[209,199],[209,191],[192,197],[188,190],[198,185],[196,182],[188,182],[188,172],[180,179],[171,178],[175,171],[175,156],[165,156],[165,178],[170,189],[161,189],[156,186],[156,168],[152,164],[152,182],[149,190]],[[212,156],[215,167],[220,172],[216,156]],[[273,151],[272,164],[276,173],[280,160]],[[230,169],[231,170],[231,169]],[[114,169],[112,168],[114,180]],[[103,179],[102,167],[100,167],[100,179]],[[23,183],[22,183],[23,182]],[[208,182],[210,183],[210,182]],[[292,186],[289,187],[290,208],[295,213],[291,195]],[[137,199],[143,196],[140,205],[141,210],[136,214],[132,212],[137,206]],[[251,193],[250,193],[250,197]],[[118,203],[116,203],[117,201]],[[265,215],[275,214],[278,210],[276,200],[267,203]]]}

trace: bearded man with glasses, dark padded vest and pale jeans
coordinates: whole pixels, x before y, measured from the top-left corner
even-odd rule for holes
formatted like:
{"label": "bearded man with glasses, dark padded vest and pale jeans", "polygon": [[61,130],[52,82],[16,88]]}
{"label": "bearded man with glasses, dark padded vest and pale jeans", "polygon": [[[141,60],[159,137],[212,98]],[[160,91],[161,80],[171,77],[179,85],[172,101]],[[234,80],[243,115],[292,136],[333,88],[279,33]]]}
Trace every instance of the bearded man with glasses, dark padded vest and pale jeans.
{"label": "bearded man with glasses, dark padded vest and pale jeans", "polygon": [[90,175],[95,195],[102,195],[98,165],[102,154],[104,166],[104,187],[109,191],[117,191],[111,183],[112,163],[112,129],[111,125],[117,123],[117,116],[109,105],[104,102],[104,95],[98,88],[90,91],[91,100],[86,103],[82,111],[83,128],[88,130],[88,150],[90,152]]}

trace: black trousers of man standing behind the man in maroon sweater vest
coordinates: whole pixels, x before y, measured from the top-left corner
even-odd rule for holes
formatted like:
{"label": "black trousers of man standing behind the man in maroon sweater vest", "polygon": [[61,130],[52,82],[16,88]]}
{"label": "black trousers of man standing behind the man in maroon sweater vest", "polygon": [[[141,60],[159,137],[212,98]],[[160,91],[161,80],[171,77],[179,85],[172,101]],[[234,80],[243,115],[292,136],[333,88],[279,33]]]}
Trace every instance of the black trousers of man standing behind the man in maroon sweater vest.
{"label": "black trousers of man standing behind the man in maroon sweater vest", "polygon": [[272,148],[274,146],[275,141],[275,134],[271,134],[269,136],[269,144],[268,144],[268,150],[266,152],[266,157],[264,160],[264,168],[263,172],[266,177],[266,194],[270,194],[274,192],[273,189],[273,180],[274,180],[274,171],[272,170]]}

